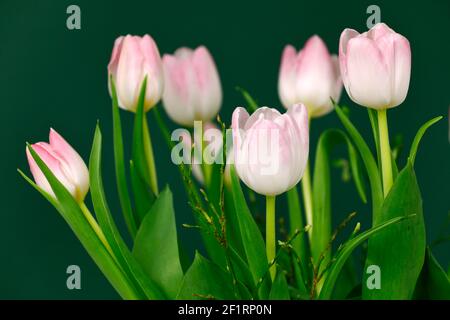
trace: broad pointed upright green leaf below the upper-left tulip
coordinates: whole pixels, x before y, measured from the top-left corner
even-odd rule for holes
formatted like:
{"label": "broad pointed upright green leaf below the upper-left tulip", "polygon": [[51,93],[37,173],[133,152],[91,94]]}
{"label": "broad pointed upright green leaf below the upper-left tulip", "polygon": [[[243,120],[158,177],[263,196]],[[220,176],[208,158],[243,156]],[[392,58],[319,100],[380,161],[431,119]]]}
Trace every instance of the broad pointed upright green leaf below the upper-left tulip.
{"label": "broad pointed upright green leaf below the upper-left tulip", "polygon": [[145,216],[136,235],[133,255],[169,298],[175,298],[183,270],[181,268],[173,197],[166,187]]}

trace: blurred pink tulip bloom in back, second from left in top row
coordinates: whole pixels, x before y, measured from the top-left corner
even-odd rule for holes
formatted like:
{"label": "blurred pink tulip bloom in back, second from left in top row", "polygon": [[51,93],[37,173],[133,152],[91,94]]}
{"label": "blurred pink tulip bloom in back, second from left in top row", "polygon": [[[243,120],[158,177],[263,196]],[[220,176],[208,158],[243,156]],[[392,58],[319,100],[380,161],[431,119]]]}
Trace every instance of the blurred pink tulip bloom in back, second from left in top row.
{"label": "blurred pink tulip bloom in back, second from left in top row", "polygon": [[169,117],[183,126],[213,120],[222,103],[222,88],[208,49],[180,48],[165,54],[163,70],[163,103]]}

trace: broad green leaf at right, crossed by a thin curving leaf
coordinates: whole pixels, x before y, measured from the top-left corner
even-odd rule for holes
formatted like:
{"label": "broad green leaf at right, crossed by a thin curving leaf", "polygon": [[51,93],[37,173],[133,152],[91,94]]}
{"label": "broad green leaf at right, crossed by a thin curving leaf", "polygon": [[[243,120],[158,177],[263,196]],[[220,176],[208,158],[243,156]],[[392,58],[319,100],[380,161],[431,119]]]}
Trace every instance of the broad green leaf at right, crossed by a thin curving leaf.
{"label": "broad green leaf at right, crossed by a thin curving leaf", "polygon": [[402,224],[397,224],[374,235],[368,244],[366,270],[370,265],[381,269],[381,289],[369,290],[364,274],[364,299],[410,299],[422,269],[425,256],[425,224],[422,198],[412,163],[399,173],[387,195],[374,225],[396,217],[414,214]]}

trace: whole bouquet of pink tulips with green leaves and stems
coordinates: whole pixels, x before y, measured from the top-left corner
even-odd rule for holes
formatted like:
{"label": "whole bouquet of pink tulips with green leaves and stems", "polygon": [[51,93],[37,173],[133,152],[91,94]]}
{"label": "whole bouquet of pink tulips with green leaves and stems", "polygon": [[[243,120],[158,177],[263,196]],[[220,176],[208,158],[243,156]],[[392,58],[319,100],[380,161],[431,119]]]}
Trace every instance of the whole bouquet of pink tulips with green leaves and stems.
{"label": "whole bouquet of pink tulips with green leaves and stems", "polygon": [[[385,24],[362,34],[344,30],[338,56],[313,36],[300,51],[289,45],[282,54],[278,93],[286,112],[259,107],[239,89],[246,108],[236,108],[227,123],[218,116],[222,88],[207,48],[180,48],[161,59],[150,36],[119,37],[108,85],[120,208],[109,207],[103,188],[99,125],[88,166],[51,129],[48,143],[26,147],[34,181],[19,172],[61,214],[123,299],[448,299],[448,275],[426,245],[414,173],[419,142],[441,117],[418,130],[406,163],[389,143],[387,111],[404,101],[410,70],[409,41]],[[370,142],[352,123],[350,108],[338,105],[343,86],[367,108]],[[181,128],[169,132],[160,100]],[[129,156],[120,109],[134,113]],[[332,111],[342,128],[322,132],[311,155],[309,128]],[[160,128],[167,146],[158,152],[171,153],[185,187],[195,225],[183,226],[202,237],[203,253],[193,261],[182,258],[170,187],[159,188],[149,126]],[[355,213],[333,227],[336,146],[348,151],[347,175],[361,201],[371,203],[372,223],[364,228]],[[89,190],[93,210],[85,203]],[[280,232],[276,199],[284,193],[288,227]],[[257,194],[265,196],[265,220],[255,219]],[[119,212],[131,246],[115,224]],[[340,244],[338,233],[346,239]],[[361,245],[357,275],[354,250]]]}

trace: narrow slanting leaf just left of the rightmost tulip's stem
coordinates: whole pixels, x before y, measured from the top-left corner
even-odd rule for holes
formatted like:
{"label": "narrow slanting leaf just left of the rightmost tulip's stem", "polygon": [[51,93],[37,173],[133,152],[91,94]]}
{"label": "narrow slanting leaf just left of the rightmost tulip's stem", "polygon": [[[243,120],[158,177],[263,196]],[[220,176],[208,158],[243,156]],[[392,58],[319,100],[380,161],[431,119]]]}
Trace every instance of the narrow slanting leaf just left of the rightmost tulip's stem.
{"label": "narrow slanting leaf just left of the rightmost tulip's stem", "polygon": [[370,188],[372,191],[372,217],[376,217],[383,203],[383,189],[381,186],[381,179],[377,163],[375,162],[375,159],[373,158],[373,155],[370,152],[370,149],[364,141],[363,137],[351,123],[351,121],[347,118],[342,109],[335,104],[335,110],[336,114],[347,130],[348,135],[353,140],[353,143],[358,149],[363,163],[366,167],[367,176],[369,177]]}

